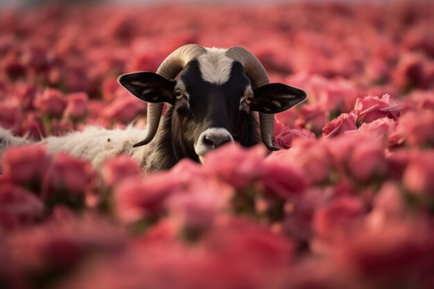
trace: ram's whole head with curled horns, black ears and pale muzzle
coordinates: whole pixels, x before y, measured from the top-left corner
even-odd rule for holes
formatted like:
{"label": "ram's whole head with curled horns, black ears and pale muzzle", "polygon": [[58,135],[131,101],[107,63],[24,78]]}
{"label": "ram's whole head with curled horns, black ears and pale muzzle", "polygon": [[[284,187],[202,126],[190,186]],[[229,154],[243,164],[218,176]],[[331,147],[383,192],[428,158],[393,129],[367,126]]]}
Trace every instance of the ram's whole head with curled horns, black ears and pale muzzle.
{"label": "ram's whole head with curled horns, black ears and pale muzzle", "polygon": [[185,45],[168,55],[157,73],[124,74],[119,83],[149,103],[146,137],[134,146],[153,140],[163,105],[168,103],[174,107],[172,130],[178,136],[174,141],[182,141],[201,161],[207,151],[223,143],[243,144],[246,134],[254,133],[248,125],[256,117],[252,112],[259,112],[263,143],[277,150],[272,146],[274,114],[307,98],[301,89],[270,83],[259,60],[236,46]]}

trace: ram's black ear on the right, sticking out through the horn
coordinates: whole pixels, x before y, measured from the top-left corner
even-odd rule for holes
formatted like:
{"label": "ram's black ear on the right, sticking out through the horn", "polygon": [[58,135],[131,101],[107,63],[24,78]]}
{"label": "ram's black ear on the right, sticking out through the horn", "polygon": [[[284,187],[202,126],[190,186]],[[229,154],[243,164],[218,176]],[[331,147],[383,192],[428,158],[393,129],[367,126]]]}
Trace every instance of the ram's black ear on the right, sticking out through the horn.
{"label": "ram's black ear on the right, sticking out through the horn", "polygon": [[283,83],[269,83],[254,89],[250,109],[266,114],[277,114],[302,103],[306,98],[307,94],[302,89]]}

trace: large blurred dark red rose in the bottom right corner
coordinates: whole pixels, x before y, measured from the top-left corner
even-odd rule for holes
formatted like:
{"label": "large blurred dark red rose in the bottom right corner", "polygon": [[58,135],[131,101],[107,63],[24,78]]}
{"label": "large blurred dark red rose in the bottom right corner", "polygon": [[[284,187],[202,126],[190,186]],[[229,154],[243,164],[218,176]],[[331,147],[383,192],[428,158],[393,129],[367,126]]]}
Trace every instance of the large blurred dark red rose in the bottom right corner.
{"label": "large blurred dark red rose in the bottom right corner", "polygon": [[334,247],[333,256],[361,280],[377,282],[374,287],[398,288],[403,283],[418,286],[432,282],[428,268],[434,262],[427,256],[432,256],[433,250],[431,226],[415,218],[413,222],[400,220],[380,229],[359,231]]}

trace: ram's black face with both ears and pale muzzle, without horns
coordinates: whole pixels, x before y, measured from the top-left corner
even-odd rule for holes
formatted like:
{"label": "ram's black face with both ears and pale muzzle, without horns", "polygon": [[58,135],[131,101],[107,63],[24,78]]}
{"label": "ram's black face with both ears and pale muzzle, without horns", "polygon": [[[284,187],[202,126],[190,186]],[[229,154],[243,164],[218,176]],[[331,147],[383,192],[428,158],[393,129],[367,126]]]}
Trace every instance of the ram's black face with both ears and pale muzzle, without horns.
{"label": "ram's black face with both ears and pale muzzle, without horns", "polygon": [[[281,83],[252,90],[243,66],[232,62],[229,78],[220,85],[202,79],[198,60],[189,62],[177,81],[152,72],[119,77],[119,83],[148,103],[173,105],[171,133],[178,157],[202,160],[203,155],[228,141],[240,141],[252,120],[250,112],[275,114],[306,100],[304,91]],[[147,142],[146,142],[147,143]]]}

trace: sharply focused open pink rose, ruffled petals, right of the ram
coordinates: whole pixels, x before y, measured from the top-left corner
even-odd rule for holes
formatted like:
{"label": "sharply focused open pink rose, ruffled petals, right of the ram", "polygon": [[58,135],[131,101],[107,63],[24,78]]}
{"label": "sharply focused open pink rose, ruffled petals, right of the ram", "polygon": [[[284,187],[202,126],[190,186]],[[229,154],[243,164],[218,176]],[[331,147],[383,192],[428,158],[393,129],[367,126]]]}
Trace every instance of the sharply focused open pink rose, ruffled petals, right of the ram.
{"label": "sharply focused open pink rose, ruffled petals, right of the ram", "polygon": [[401,112],[401,107],[398,103],[390,105],[389,98],[389,94],[383,95],[382,98],[378,96],[365,96],[363,99],[357,98],[353,111],[357,115],[357,121],[370,123],[383,117],[396,121]]}

